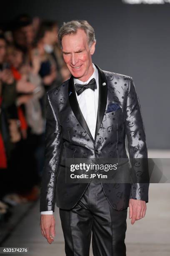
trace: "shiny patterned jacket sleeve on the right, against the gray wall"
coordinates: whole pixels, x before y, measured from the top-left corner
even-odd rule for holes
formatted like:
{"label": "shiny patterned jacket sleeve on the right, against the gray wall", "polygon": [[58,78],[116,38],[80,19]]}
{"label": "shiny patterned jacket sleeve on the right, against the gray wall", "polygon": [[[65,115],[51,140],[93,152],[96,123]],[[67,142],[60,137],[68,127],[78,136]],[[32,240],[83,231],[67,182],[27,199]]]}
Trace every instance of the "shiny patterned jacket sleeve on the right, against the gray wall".
{"label": "shiny patterned jacket sleeve on the right, against the gray wall", "polygon": [[129,80],[125,115],[128,152],[132,170],[131,174],[134,182],[131,184],[130,199],[133,198],[148,202],[148,150],[140,103],[132,77]]}

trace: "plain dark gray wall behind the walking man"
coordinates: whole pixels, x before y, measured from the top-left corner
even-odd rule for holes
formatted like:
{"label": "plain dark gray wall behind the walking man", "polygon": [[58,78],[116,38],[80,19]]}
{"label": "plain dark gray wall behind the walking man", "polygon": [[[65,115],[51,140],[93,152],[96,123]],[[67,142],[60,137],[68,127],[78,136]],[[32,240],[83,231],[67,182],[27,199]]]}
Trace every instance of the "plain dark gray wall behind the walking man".
{"label": "plain dark gray wall behind the walking man", "polygon": [[170,148],[170,4],[15,0],[8,2],[8,7],[3,5],[1,20],[20,13],[57,19],[60,24],[72,19],[88,20],[97,39],[93,62],[134,79],[148,148]]}

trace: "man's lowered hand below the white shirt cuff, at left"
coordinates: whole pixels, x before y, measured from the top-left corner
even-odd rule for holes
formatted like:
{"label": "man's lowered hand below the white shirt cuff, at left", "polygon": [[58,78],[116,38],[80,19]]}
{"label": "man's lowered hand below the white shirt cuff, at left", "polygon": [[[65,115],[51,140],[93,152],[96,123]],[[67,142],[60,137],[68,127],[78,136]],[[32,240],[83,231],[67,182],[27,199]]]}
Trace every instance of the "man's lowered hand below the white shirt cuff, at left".
{"label": "man's lowered hand below the white shirt cuff, at left", "polygon": [[40,228],[42,236],[44,236],[48,243],[52,243],[55,236],[55,218],[53,214],[41,214]]}

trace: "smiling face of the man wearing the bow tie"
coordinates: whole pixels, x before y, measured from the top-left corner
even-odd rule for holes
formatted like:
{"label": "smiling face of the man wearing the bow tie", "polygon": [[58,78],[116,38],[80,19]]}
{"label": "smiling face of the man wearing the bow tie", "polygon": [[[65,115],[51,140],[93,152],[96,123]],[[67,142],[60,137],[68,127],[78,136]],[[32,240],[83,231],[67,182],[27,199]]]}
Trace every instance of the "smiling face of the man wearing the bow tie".
{"label": "smiling face of the man wearing the bow tie", "polygon": [[88,46],[87,35],[78,29],[76,34],[63,36],[62,53],[67,68],[73,77],[87,81],[92,70],[92,54],[95,52],[95,42]]}

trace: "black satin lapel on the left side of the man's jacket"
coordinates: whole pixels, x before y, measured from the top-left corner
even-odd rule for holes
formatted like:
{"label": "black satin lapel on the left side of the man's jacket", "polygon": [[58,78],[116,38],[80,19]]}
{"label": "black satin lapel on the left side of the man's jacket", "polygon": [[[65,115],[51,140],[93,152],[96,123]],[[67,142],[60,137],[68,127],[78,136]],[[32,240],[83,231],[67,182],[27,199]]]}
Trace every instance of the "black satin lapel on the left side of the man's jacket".
{"label": "black satin lapel on the left side of the man's jacket", "polygon": [[69,79],[68,95],[69,95],[68,98],[69,98],[70,106],[72,108],[73,113],[75,114],[75,117],[79,121],[82,128],[85,129],[85,131],[88,133],[88,135],[90,136],[90,138],[94,142],[92,134],[90,133],[88,125],[85,121],[84,116],[82,115],[82,112],[80,110],[80,107],[79,107],[79,104],[78,104],[78,101],[77,101],[73,76],[71,76],[70,79]]}

